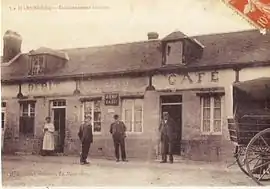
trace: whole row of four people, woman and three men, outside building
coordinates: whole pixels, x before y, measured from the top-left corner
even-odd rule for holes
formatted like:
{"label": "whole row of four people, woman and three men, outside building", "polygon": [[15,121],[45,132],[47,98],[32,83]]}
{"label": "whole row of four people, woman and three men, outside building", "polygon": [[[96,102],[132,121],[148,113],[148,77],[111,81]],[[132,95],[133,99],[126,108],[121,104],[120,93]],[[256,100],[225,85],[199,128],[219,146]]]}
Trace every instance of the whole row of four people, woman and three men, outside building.
{"label": "whole row of four people, woman and three men, outside building", "polygon": [[[86,116],[84,123],[80,126],[78,136],[82,143],[82,151],[80,155],[80,163],[82,165],[88,164],[87,156],[91,143],[93,142],[93,132],[91,117]],[[44,137],[42,152],[43,155],[49,155],[54,151],[54,125],[51,122],[51,118],[46,118],[46,123],[44,124]],[[170,118],[167,112],[163,113],[162,121],[159,126],[160,141],[161,141],[161,153],[162,161],[161,163],[167,162],[167,155],[169,155],[169,162],[173,163],[173,141],[175,135],[175,122]],[[110,126],[110,133],[112,134],[115,157],[116,161],[120,161],[120,151],[121,160],[127,162],[126,150],[125,150],[125,138],[126,138],[126,126],[123,121],[119,120],[118,115],[114,115],[114,122]],[[120,148],[120,151],[119,151]]]}

